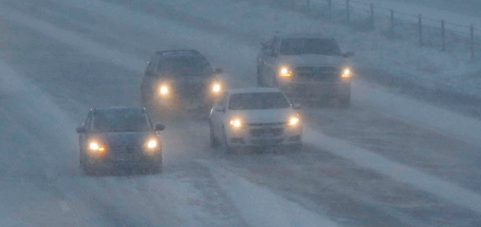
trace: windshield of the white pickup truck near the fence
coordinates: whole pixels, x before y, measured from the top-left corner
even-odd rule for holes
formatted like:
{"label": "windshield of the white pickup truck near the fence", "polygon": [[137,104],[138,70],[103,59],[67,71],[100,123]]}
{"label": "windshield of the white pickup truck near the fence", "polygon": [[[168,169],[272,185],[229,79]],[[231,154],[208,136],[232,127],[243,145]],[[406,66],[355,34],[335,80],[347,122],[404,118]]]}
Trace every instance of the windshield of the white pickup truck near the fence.
{"label": "windshield of the white pickup truck near the fence", "polygon": [[340,56],[341,50],[334,39],[326,38],[284,38],[280,45],[280,54],[322,54]]}

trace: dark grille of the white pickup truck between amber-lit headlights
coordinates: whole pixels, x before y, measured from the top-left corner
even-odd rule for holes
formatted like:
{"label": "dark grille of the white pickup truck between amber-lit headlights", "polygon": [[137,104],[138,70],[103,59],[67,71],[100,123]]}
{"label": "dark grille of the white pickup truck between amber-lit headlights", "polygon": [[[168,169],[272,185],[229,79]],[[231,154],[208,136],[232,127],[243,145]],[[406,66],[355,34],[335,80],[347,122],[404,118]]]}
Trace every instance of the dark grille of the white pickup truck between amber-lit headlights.
{"label": "dark grille of the white pickup truck between amber-lit headlights", "polygon": [[298,82],[337,83],[341,80],[341,70],[330,66],[301,66],[294,69]]}

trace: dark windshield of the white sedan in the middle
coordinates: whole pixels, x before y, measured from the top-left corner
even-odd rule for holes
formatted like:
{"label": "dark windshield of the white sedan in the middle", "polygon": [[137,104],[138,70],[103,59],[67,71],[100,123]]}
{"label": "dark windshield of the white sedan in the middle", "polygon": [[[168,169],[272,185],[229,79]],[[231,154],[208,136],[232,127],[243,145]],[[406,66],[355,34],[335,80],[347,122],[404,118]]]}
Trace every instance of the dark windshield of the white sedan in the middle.
{"label": "dark windshield of the white sedan in the middle", "polygon": [[289,108],[290,103],[280,92],[232,94],[229,110],[261,110]]}

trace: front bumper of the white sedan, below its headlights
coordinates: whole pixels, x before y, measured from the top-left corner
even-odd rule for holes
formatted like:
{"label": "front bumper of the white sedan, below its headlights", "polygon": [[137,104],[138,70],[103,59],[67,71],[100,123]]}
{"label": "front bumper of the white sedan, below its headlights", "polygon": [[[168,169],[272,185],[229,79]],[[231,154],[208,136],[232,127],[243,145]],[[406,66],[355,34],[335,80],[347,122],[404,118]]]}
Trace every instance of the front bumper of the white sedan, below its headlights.
{"label": "front bumper of the white sedan, below its headlights", "polygon": [[226,129],[229,147],[286,146],[302,143],[302,126],[251,124]]}

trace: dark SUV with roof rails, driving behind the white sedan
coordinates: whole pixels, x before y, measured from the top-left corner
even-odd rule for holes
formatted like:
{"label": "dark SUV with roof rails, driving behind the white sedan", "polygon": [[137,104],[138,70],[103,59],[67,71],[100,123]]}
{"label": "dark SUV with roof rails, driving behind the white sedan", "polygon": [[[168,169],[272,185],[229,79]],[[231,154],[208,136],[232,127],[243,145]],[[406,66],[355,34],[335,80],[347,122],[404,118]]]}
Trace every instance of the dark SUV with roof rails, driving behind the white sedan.
{"label": "dark SUV with roof rails, driving behind the white sedan", "polygon": [[163,113],[209,110],[224,89],[221,73],[197,50],[157,51],[142,78],[142,105]]}

